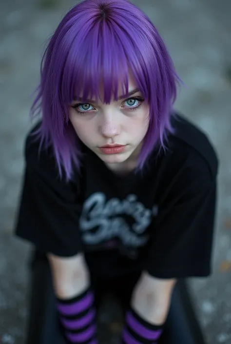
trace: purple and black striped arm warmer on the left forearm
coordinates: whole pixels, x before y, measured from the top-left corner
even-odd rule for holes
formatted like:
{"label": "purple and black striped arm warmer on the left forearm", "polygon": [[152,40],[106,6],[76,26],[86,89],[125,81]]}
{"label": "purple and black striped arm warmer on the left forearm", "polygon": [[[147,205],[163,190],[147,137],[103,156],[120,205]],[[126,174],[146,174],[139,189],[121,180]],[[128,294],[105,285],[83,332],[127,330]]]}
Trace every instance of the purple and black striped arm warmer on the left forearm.
{"label": "purple and black striped arm warmer on the left forearm", "polygon": [[65,336],[70,343],[97,344],[96,309],[91,290],[81,295],[61,300],[57,298],[57,308]]}

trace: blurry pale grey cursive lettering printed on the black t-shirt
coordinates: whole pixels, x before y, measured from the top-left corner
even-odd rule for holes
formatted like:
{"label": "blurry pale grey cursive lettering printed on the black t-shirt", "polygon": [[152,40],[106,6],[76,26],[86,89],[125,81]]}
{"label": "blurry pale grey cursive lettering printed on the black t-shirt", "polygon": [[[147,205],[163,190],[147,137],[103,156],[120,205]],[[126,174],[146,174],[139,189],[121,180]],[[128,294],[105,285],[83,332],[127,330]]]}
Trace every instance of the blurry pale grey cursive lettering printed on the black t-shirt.
{"label": "blurry pale grey cursive lettering printed on the black t-shirt", "polygon": [[[129,225],[123,215],[132,217],[134,223]],[[145,208],[136,195],[128,195],[124,200],[106,200],[103,193],[94,193],[83,204],[79,220],[82,240],[86,244],[98,244],[118,238],[126,246],[143,246],[148,241],[148,235],[143,233],[154,215],[157,215],[156,206],[152,210]]]}

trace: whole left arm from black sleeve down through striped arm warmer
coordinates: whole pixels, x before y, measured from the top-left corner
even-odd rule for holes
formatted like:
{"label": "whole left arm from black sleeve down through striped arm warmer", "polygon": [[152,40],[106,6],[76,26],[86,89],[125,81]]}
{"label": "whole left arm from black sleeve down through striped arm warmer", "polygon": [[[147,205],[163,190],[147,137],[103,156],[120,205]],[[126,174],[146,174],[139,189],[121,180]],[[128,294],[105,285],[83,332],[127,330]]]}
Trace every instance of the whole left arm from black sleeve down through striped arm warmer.
{"label": "whole left arm from black sleeve down through striped arm warmer", "polygon": [[16,234],[34,243],[38,251],[49,252],[57,311],[69,343],[96,344],[94,293],[77,226],[79,180],[76,176],[67,182],[58,176],[52,150],[38,152],[39,141],[29,135]]}

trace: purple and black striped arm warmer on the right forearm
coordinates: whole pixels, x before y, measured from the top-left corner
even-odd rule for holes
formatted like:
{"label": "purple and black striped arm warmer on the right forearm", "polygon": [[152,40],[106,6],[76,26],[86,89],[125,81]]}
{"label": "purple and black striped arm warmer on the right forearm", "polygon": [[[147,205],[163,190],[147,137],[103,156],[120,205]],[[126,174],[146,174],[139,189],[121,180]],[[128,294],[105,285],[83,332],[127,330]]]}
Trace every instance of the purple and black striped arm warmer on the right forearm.
{"label": "purple and black striped arm warmer on the right forearm", "polygon": [[130,309],[126,314],[122,344],[155,344],[162,331],[163,325],[150,324]]}

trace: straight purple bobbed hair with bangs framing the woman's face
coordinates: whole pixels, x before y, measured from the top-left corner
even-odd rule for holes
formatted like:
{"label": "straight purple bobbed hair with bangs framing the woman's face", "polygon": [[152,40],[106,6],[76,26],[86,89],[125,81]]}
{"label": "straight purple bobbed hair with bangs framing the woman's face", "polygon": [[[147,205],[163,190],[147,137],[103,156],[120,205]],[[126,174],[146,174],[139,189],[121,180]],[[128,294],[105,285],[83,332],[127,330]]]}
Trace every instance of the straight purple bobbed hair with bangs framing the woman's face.
{"label": "straight purple bobbed hair with bangs framing the woman's face", "polygon": [[[121,72],[122,71],[122,72]],[[45,50],[32,118],[42,114],[40,147],[52,146],[58,171],[71,178],[80,165],[80,145],[69,120],[70,103],[81,96],[117,101],[128,93],[130,73],[149,103],[149,128],[138,168],[172,131],[170,118],[179,81],[166,46],[150,19],[128,0],[84,0],[61,20]]]}

